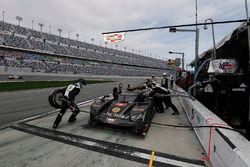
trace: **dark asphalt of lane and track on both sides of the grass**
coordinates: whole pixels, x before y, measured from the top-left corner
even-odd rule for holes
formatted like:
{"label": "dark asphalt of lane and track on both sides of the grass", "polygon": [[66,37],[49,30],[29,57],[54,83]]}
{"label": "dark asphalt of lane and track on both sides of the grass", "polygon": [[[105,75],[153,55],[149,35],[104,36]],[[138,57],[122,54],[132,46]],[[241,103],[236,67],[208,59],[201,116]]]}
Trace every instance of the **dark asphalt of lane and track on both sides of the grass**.
{"label": "dark asphalt of lane and track on both sides of the grass", "polygon": [[[8,81],[7,75],[1,75],[0,81]],[[70,76],[24,76],[23,80],[72,80],[79,77]],[[114,86],[122,82],[138,84],[144,81],[144,78],[127,78],[127,77],[83,77],[86,79],[112,80],[116,82],[91,84],[84,87],[84,90],[77,96],[76,101],[86,101],[99,96],[107,95],[112,92]],[[19,81],[19,80],[18,80]],[[22,80],[20,80],[22,81]],[[48,103],[48,95],[55,88],[36,89],[16,92],[0,93],[0,126],[24,119],[30,116],[39,115],[53,110]]]}

